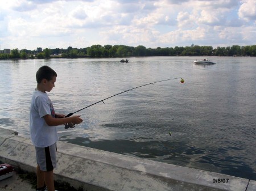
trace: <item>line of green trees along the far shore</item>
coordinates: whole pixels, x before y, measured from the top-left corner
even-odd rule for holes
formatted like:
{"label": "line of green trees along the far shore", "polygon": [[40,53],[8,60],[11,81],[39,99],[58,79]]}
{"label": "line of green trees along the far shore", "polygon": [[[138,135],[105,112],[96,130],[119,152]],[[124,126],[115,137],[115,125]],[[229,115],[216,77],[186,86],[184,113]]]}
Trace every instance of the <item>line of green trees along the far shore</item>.
{"label": "line of green trees along the far shore", "polygon": [[87,48],[67,49],[42,49],[36,50],[13,49],[10,54],[0,53],[0,59],[12,58],[81,58],[81,57],[144,57],[144,56],[256,56],[256,45],[248,46],[227,46],[213,49],[212,46],[175,46],[175,48],[146,48],[139,45],[136,47],[126,45],[92,45]]}

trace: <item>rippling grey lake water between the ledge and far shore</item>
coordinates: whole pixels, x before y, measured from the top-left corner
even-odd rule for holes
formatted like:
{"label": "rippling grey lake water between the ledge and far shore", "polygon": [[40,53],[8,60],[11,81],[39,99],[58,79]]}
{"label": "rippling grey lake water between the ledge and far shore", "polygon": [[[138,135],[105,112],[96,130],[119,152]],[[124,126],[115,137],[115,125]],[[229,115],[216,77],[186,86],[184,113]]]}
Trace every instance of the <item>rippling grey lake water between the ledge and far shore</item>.
{"label": "rippling grey lake water between the ledge and far shore", "polygon": [[[58,127],[60,141],[163,163],[256,180],[256,57],[1,60],[0,126],[29,137],[35,73],[57,73],[49,92],[55,111],[86,108],[74,129]],[[170,136],[168,132],[171,131]]]}

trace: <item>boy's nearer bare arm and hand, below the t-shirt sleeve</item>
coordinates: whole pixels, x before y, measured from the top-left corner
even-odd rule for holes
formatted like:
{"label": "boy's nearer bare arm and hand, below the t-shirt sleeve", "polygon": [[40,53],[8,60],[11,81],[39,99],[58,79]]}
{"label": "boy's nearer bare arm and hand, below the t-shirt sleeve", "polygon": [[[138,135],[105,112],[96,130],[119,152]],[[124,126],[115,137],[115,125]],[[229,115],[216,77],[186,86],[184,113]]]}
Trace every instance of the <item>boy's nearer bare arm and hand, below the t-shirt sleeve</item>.
{"label": "boy's nearer bare arm and hand, below the t-shirt sleeve", "polygon": [[80,124],[83,120],[80,118],[80,116],[72,116],[67,118],[53,118],[50,114],[45,115],[44,120],[46,120],[46,124],[48,126],[57,126],[57,125],[63,125],[68,123],[73,124]]}

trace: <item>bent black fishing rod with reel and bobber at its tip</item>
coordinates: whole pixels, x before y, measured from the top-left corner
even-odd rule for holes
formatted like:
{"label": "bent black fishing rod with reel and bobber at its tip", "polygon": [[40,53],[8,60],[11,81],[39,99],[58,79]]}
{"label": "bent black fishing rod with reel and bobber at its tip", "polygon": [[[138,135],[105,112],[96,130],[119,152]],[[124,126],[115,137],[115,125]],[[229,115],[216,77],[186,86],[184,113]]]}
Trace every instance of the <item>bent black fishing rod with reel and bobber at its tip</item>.
{"label": "bent black fishing rod with reel and bobber at its tip", "polygon": [[[70,116],[72,116],[73,114],[82,111],[83,109],[86,109],[86,108],[91,107],[92,105],[95,105],[95,104],[101,103],[101,102],[104,103],[105,100],[110,99],[111,97],[114,97],[114,96],[123,94],[123,93],[125,93],[125,92],[134,90],[134,89],[136,89],[136,88],[143,87],[143,86],[147,86],[147,85],[150,85],[150,84],[154,85],[154,83],[164,82],[164,81],[168,81],[168,80],[172,80],[172,79],[181,79],[181,80],[180,80],[181,83],[184,83],[184,82],[185,82],[183,78],[171,78],[171,79],[160,80],[160,81],[157,81],[157,82],[147,83],[147,84],[144,84],[144,85],[142,85],[142,86],[138,86],[138,87],[131,88],[131,89],[129,89],[129,90],[122,91],[122,92],[120,92],[120,93],[118,93],[118,94],[115,94],[115,95],[113,95],[113,96],[109,96],[109,97],[107,97],[107,98],[105,98],[105,99],[103,99],[103,100],[97,101],[96,103],[90,104],[90,105],[88,105],[88,106],[86,106],[86,107],[84,107],[84,108],[82,108],[82,109],[79,109],[79,110],[77,110],[76,112],[69,113],[69,114],[67,114],[67,116],[65,116],[65,117],[70,117]],[[104,104],[105,104],[105,103],[104,103]],[[65,124],[65,129],[68,129],[68,128],[75,128],[75,126],[74,126],[72,123],[70,123],[70,124]]]}

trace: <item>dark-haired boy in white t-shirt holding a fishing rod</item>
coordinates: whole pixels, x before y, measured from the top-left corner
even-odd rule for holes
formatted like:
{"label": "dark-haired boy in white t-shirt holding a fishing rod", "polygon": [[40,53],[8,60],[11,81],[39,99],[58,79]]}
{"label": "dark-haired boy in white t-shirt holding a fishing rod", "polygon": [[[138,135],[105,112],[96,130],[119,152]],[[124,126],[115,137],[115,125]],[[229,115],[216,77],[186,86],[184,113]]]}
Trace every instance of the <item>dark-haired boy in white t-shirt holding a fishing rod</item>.
{"label": "dark-haired boy in white t-shirt holding a fishing rod", "polygon": [[46,92],[55,87],[57,74],[48,66],[42,66],[36,72],[37,86],[33,92],[30,108],[30,135],[36,150],[36,168],[38,191],[55,191],[53,168],[56,167],[57,125],[80,124],[80,116],[65,118],[56,114]]}

